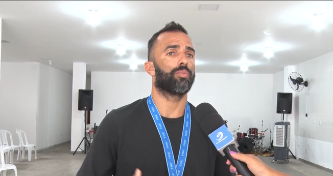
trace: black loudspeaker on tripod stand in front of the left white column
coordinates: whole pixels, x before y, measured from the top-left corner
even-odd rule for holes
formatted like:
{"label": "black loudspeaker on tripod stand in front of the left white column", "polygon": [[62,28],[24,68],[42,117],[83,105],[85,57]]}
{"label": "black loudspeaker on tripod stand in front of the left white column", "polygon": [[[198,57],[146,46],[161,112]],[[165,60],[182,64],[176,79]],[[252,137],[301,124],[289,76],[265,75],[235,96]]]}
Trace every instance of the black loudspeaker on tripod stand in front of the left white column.
{"label": "black loudspeaker on tripod stand in front of the left white column", "polygon": [[79,110],[92,111],[93,90],[79,90]]}

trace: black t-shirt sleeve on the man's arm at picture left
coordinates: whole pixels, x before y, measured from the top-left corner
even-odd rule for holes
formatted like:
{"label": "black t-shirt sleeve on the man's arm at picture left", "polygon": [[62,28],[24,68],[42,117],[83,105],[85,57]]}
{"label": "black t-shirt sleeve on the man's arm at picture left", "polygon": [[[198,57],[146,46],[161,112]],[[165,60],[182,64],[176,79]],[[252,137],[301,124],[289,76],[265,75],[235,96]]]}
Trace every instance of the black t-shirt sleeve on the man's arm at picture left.
{"label": "black t-shirt sleeve on the man's arm at picture left", "polygon": [[117,163],[118,128],[111,111],[101,122],[77,176],[110,176]]}

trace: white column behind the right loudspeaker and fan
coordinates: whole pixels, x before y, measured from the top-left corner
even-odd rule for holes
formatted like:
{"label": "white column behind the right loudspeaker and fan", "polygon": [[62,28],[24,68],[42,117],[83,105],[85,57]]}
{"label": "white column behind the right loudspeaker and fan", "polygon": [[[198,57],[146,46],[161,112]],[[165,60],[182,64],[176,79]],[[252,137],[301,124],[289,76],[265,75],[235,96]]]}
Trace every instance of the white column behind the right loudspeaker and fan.
{"label": "white column behind the right loudspeaker and fan", "polygon": [[[284,121],[290,122],[290,151],[295,155],[295,91],[289,85],[288,77],[295,71],[295,66],[286,66],[284,67],[283,74],[283,86],[285,93],[293,93],[293,103],[292,103],[292,113],[284,115]],[[290,154],[291,155],[291,154]]]}

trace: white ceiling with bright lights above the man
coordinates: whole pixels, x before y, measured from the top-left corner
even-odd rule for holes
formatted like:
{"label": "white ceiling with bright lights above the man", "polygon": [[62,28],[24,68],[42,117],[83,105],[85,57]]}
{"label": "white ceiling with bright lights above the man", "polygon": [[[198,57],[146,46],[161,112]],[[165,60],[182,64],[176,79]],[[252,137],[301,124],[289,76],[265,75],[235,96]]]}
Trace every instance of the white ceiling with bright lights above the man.
{"label": "white ceiling with bright lights above the man", "polygon": [[[199,11],[219,4],[218,11]],[[254,66],[247,73],[275,73],[333,51],[332,1],[101,1],[101,23],[87,23],[88,4],[79,1],[1,1],[2,61],[32,61],[70,72],[73,62],[87,71],[131,71],[133,53],[144,71],[147,42],[172,20],[182,24],[196,49],[197,72],[242,73],[242,52]],[[324,28],[313,28],[324,12]],[[271,33],[266,36],[264,31]],[[119,56],[110,43],[125,39]],[[269,42],[274,56],[264,57]],[[108,45],[107,45],[108,44]],[[125,62],[125,63],[124,63]],[[128,63],[126,63],[128,62]]]}

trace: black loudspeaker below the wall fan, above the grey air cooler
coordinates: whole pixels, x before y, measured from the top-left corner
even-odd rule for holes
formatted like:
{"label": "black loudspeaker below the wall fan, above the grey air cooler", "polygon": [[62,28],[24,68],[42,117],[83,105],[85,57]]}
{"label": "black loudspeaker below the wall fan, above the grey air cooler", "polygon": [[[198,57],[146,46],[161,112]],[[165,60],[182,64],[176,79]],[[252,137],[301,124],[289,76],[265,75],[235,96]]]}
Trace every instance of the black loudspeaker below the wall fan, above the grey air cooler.
{"label": "black loudspeaker below the wall fan, above the grey air cooler", "polygon": [[293,93],[277,93],[276,113],[291,114],[293,107]]}

